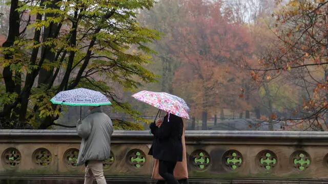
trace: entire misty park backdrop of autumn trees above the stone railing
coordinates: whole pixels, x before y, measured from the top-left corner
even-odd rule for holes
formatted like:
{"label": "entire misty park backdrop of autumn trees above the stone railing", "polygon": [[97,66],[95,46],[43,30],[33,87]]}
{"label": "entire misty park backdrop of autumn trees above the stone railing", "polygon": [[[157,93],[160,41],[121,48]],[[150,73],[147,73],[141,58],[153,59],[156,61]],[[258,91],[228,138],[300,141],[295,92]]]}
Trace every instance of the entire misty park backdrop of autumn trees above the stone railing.
{"label": "entire misty park backdrop of autumn trees above the stone railing", "polygon": [[116,129],[154,120],[139,90],[185,99],[192,130],[328,129],[328,1],[0,0],[0,13],[0,128],[74,127],[79,107],[49,100],[86,87]]}

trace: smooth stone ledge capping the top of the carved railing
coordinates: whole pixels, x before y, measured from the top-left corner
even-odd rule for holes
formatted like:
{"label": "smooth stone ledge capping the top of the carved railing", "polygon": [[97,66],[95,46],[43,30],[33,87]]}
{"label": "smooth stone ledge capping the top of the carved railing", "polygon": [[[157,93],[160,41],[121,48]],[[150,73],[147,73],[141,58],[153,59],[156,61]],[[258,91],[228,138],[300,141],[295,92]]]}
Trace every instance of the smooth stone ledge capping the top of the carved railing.
{"label": "smooth stone ledge capping the top of the carved railing", "polygon": [[[150,144],[149,131],[115,130],[112,143]],[[80,138],[75,130],[0,130],[0,143],[74,143]],[[328,145],[328,132],[296,131],[186,131],[187,144],[220,145]]]}

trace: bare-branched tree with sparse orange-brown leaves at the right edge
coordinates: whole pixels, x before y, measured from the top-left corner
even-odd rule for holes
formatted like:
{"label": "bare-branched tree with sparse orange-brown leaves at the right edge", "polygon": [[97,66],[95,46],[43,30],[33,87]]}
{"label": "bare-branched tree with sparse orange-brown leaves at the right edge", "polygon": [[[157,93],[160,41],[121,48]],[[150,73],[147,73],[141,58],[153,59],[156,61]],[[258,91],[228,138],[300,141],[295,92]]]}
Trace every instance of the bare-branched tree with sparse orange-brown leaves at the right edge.
{"label": "bare-branched tree with sparse orange-brown leaves at the right edge", "polygon": [[[328,1],[276,1],[276,13],[267,19],[271,43],[257,53],[258,64],[244,63],[258,82],[284,79],[294,86],[301,103],[294,110],[294,124],[324,130],[328,120]],[[267,39],[268,40],[268,39]],[[272,117],[278,118],[278,117]]]}

